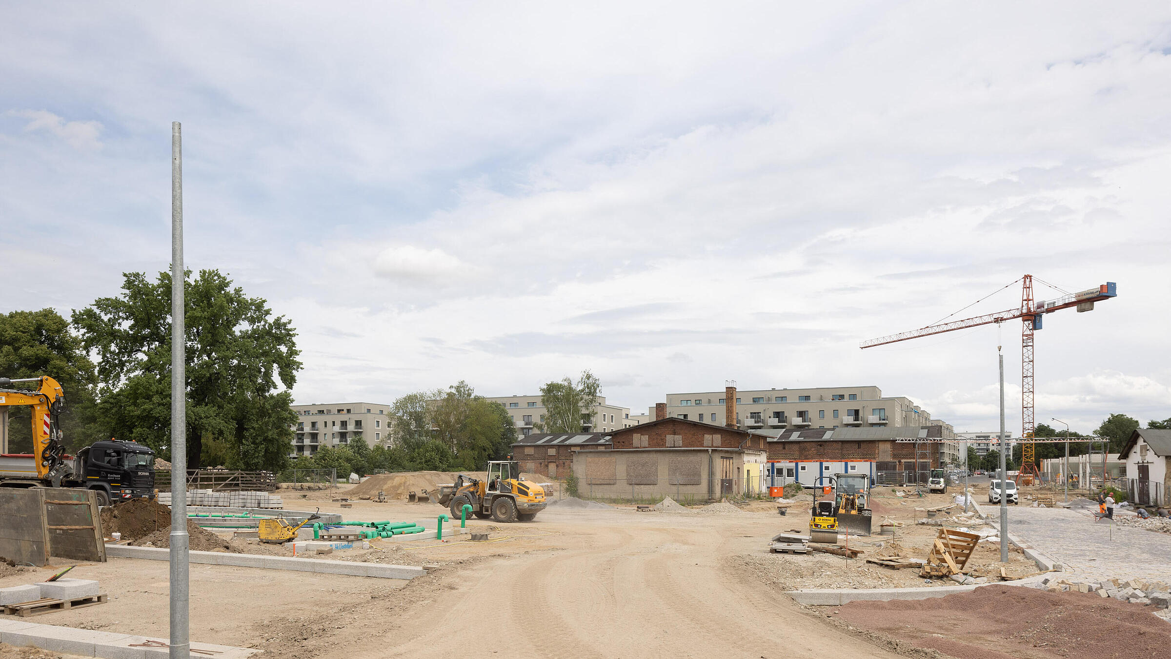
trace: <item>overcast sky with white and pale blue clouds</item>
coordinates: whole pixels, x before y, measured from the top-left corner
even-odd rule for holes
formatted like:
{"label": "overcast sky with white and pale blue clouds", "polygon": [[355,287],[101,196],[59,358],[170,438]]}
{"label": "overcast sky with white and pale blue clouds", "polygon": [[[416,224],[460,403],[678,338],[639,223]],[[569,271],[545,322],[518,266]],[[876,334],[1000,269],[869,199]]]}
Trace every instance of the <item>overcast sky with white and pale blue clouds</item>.
{"label": "overcast sky with white and pale blue clouds", "polygon": [[[0,311],[186,260],[293,320],[299,402],[876,385],[1020,432],[1171,416],[1167,2],[0,5]],[[1038,285],[1039,298],[1057,292]],[[1002,332],[1002,334],[1001,334]],[[1050,422],[1063,428],[1063,426]]]}

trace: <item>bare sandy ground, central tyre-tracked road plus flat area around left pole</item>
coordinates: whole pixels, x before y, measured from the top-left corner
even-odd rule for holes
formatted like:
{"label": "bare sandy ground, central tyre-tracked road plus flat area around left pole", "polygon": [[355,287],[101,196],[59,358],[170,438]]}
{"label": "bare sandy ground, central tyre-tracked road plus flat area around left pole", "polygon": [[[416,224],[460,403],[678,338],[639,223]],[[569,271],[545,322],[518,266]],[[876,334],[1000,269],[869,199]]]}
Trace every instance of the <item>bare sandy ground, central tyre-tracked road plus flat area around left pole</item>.
{"label": "bare sandy ground, central tyre-tracked road plus flat area around left pole", "polygon": [[[337,511],[348,519],[418,519],[440,507],[355,502]],[[412,582],[192,565],[192,639],[292,659],[467,652],[755,659],[814,654],[827,644],[852,658],[896,657],[745,570],[735,557],[765,552],[778,532],[775,509],[669,515],[554,507],[532,523],[472,525],[500,542],[386,550],[393,562],[430,568]],[[379,552],[344,553],[377,559]],[[50,571],[11,575],[0,586]],[[39,623],[166,636],[166,563],[111,558],[81,564],[71,576],[98,579],[110,602]]]}

